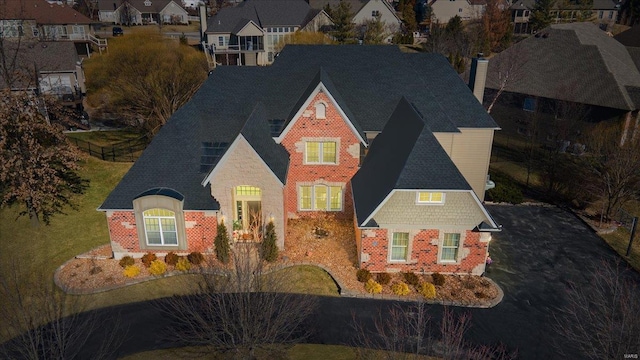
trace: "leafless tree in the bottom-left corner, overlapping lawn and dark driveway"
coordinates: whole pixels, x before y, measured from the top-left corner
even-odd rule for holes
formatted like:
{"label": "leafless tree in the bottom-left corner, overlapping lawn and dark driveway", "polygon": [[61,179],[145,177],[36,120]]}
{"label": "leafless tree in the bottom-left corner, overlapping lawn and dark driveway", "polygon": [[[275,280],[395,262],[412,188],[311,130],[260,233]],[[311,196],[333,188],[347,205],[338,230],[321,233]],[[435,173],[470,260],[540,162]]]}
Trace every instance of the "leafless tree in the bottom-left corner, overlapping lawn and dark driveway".
{"label": "leafless tree in the bottom-left corner, overlapping lawn and dark driveway", "polygon": [[74,359],[86,347],[92,359],[114,356],[126,336],[117,314],[83,312],[85,298],[65,294],[48,277],[21,276],[19,269],[13,264],[0,272],[0,339],[6,340],[0,357]]}

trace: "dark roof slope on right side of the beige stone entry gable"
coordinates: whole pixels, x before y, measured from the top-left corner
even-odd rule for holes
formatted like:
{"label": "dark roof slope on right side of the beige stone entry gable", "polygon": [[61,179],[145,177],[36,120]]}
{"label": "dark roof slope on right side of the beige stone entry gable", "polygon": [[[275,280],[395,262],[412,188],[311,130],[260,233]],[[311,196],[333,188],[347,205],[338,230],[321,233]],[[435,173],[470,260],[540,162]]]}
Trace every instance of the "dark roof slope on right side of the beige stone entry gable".
{"label": "dark roof slope on right side of the beige stone entry gable", "polygon": [[259,102],[240,134],[258,153],[262,161],[273,171],[282,184],[286,183],[289,169],[289,153],[280,144],[276,144],[270,136],[271,129],[267,121],[267,109]]}

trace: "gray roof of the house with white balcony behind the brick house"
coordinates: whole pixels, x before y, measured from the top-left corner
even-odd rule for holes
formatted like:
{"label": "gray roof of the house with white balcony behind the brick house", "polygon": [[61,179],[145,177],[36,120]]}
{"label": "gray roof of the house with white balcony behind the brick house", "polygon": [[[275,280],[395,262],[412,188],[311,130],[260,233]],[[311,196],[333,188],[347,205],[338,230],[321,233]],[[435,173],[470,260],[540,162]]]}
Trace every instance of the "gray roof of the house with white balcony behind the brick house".
{"label": "gray roof of the house with white balcony behind the brick house", "polygon": [[[234,33],[248,20],[261,28],[304,26],[310,13],[317,14],[304,0],[248,0],[235,7],[222,8],[207,20],[206,33]],[[242,23],[242,24],[240,24]]]}

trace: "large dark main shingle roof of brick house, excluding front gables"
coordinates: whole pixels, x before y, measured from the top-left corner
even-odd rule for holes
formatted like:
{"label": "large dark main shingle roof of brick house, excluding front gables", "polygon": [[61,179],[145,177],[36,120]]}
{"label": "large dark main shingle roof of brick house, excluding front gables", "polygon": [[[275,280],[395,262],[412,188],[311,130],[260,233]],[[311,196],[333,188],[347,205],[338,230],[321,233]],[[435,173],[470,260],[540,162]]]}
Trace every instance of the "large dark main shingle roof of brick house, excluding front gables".
{"label": "large dark main shingle roof of brick house, excluding front gables", "polygon": [[[381,131],[402,97],[432,131],[497,128],[441,55],[407,54],[392,46],[286,46],[269,67],[216,68],[101,208],[131,209],[136,195],[168,187],[185,196],[185,209],[217,209],[201,185],[207,175],[200,172],[201,144],[233,142],[259,102],[267,120],[290,120],[296,104],[321,78],[364,132]],[[282,163],[265,162],[281,176]]]}

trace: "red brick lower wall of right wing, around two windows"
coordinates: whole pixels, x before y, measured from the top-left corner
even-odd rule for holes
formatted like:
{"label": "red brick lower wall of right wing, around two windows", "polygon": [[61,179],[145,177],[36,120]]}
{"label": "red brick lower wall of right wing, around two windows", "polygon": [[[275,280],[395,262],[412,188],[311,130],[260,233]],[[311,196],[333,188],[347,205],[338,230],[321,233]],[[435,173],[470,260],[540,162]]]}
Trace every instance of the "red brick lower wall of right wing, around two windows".
{"label": "red brick lower wall of right wing, around two windows", "polygon": [[[375,233],[375,236],[367,236]],[[389,240],[386,229],[363,230],[362,252],[369,254],[369,261],[361,264],[362,268],[373,272],[385,272],[390,270],[411,272],[439,272],[444,274],[469,274],[478,265],[486,261],[488,243],[480,242],[480,233],[466,231],[463,240],[461,254],[468,254],[459,264],[438,264],[438,240],[439,231],[436,229],[422,230],[413,238],[411,256],[408,263],[389,263]],[[374,243],[376,243],[374,245]]]}

